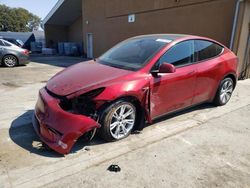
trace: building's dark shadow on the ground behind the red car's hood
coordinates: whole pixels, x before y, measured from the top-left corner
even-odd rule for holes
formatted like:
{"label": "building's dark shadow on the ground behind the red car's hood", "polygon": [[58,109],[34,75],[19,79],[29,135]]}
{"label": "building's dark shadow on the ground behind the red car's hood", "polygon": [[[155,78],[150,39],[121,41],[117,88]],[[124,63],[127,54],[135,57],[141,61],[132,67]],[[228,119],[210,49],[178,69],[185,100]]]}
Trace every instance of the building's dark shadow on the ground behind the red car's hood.
{"label": "building's dark shadow on the ground behind the red car's hood", "polygon": [[87,61],[89,59],[83,57],[72,56],[45,56],[45,55],[32,55],[30,61],[33,63],[52,65],[57,67],[69,67],[71,65]]}

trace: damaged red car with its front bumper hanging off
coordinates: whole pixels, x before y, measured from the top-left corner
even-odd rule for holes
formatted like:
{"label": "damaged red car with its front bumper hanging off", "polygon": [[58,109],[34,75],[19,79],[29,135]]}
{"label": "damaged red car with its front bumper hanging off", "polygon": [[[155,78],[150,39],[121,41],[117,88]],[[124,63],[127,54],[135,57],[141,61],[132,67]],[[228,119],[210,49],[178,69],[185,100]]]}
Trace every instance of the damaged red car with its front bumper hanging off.
{"label": "damaged red car with its front bumper hanging off", "polygon": [[33,126],[61,154],[83,135],[120,140],[163,115],[205,102],[225,105],[237,64],[227,47],[204,37],[130,38],[50,79],[39,92]]}

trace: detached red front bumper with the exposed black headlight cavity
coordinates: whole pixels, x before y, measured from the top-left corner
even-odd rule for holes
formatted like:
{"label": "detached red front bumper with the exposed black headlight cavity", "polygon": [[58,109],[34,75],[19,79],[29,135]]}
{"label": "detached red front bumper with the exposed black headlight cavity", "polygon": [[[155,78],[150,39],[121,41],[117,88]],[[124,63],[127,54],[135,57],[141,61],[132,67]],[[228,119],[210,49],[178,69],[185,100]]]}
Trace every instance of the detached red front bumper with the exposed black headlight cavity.
{"label": "detached red front bumper with the exposed black headlight cavity", "polygon": [[42,142],[60,154],[67,154],[79,137],[100,128],[96,104],[91,100],[98,92],[102,90],[67,99],[41,89],[33,126]]}

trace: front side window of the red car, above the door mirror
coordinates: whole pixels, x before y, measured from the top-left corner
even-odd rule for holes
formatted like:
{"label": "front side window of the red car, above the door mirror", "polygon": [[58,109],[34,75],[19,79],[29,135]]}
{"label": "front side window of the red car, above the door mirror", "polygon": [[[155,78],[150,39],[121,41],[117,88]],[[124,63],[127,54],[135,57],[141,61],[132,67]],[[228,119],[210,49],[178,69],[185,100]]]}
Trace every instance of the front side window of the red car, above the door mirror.
{"label": "front side window of the red car, above the door mirror", "polygon": [[170,48],[157,62],[155,68],[162,63],[170,63],[176,67],[182,67],[194,62],[194,41],[184,41]]}

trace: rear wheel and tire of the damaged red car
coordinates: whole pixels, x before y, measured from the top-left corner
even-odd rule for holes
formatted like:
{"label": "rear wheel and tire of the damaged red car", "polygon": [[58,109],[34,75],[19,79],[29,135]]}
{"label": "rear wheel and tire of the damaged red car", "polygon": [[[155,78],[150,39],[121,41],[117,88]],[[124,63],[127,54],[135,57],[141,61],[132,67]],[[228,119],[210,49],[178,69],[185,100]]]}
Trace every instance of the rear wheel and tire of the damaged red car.
{"label": "rear wheel and tire of the damaged red car", "polygon": [[214,103],[218,106],[223,106],[228,103],[234,90],[234,82],[231,78],[225,78],[221,81],[216,93]]}

